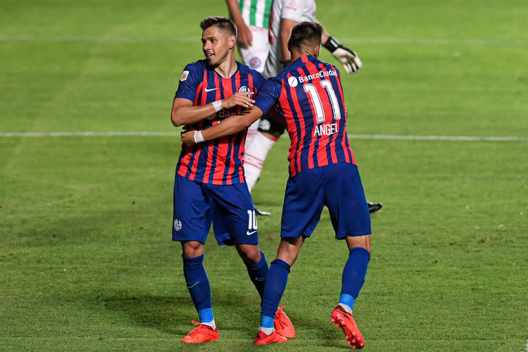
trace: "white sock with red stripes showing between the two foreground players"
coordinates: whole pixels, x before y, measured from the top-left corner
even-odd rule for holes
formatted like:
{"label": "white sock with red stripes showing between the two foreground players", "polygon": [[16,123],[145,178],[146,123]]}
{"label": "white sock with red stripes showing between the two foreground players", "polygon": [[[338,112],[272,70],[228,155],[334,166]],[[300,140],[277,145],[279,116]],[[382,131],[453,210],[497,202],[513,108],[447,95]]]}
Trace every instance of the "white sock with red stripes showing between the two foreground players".
{"label": "white sock with red stripes showing between the two foreground players", "polygon": [[246,142],[244,173],[250,192],[255,186],[256,180],[259,179],[267,153],[275,142],[276,140],[270,140],[259,131],[254,135],[250,144]]}

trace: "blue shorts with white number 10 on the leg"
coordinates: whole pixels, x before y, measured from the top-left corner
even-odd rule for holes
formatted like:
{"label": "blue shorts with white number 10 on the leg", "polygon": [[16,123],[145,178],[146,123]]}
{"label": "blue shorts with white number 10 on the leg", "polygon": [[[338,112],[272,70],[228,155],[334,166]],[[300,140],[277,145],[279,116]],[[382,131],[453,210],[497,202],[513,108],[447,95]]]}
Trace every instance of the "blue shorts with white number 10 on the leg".
{"label": "blue shorts with white number 10 on the leg", "polygon": [[209,229],[219,245],[259,243],[248,185],[202,184],[176,174],[173,241],[206,242]]}

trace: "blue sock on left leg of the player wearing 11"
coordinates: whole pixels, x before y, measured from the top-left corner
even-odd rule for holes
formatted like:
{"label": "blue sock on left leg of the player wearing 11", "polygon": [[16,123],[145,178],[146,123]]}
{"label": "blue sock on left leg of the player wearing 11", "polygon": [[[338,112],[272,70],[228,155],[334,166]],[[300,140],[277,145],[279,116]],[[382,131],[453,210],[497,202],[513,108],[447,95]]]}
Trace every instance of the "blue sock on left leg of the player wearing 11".
{"label": "blue sock on left leg of the player wearing 11", "polygon": [[266,283],[264,285],[264,296],[262,298],[262,313],[261,313],[261,327],[263,324],[269,325],[270,318],[275,317],[278,304],[281,303],[286,283],[288,281],[289,264],[281,259],[272,261],[270,271],[267,273]]}

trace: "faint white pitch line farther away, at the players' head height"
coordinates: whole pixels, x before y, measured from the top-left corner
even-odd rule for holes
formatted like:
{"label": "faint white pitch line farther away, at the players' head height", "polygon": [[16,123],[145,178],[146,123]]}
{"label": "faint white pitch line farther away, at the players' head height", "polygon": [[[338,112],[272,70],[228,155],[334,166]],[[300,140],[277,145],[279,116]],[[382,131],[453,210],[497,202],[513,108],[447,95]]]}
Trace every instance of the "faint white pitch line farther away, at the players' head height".
{"label": "faint white pitch line farther away, at the players' head height", "polygon": [[[32,36],[0,34],[0,42],[200,43],[199,36]],[[528,46],[522,39],[341,38],[348,44]]]}

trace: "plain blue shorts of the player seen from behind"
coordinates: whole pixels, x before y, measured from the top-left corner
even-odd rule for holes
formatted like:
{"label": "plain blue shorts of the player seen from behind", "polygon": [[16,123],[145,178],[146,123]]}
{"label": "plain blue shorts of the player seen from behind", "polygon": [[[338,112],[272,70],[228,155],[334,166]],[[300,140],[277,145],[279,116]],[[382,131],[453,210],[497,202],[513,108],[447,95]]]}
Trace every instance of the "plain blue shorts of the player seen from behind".
{"label": "plain blue shorts of the player seen from behind", "polygon": [[336,239],[371,233],[371,215],[358,166],[331,164],[288,179],[284,197],[282,237],[309,237],[322,208],[330,212]]}

